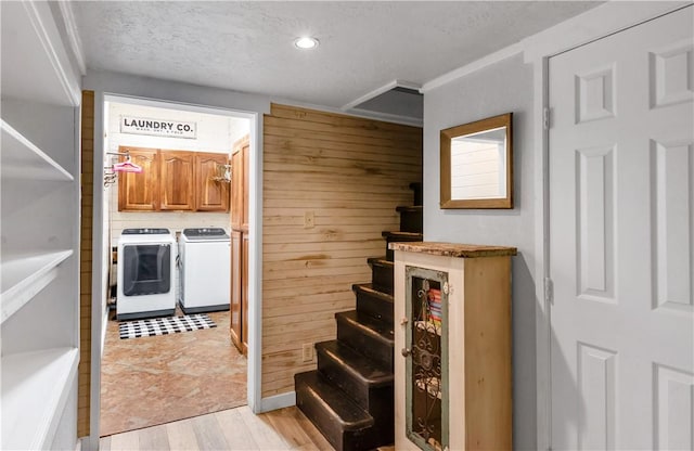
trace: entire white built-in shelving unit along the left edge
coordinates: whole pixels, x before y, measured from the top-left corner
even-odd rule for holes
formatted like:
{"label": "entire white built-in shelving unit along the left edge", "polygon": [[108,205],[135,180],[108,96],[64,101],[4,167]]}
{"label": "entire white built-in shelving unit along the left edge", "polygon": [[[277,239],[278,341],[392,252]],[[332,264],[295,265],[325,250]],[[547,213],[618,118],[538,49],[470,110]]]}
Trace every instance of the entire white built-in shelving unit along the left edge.
{"label": "entire white built-in shelving unit along the left edge", "polygon": [[79,77],[48,2],[0,9],[0,449],[75,449]]}

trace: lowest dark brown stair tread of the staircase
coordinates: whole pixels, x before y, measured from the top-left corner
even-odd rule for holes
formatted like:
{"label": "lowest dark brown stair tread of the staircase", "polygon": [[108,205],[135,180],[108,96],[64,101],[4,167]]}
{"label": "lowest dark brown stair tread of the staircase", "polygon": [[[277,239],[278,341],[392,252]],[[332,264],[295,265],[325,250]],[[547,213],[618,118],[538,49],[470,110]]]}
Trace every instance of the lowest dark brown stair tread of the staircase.
{"label": "lowest dark brown stair tread of the staircase", "polygon": [[343,430],[360,430],[374,424],[373,417],[355,404],[347,395],[325,381],[318,371],[295,375],[296,384],[304,383],[320,402],[322,410],[339,420]]}

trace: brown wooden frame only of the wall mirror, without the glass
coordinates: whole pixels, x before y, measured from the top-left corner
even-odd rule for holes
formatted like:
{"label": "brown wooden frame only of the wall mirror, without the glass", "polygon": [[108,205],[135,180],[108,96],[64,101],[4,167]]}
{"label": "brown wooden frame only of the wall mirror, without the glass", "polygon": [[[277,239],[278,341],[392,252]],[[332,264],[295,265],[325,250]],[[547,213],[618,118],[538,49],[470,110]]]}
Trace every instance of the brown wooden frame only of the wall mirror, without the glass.
{"label": "brown wooden frame only of the wall mirror, without the glass", "polygon": [[[441,208],[513,208],[513,113],[488,117],[441,130]],[[494,128],[506,127],[506,196],[493,198],[451,198],[451,140],[465,134],[479,133]]]}

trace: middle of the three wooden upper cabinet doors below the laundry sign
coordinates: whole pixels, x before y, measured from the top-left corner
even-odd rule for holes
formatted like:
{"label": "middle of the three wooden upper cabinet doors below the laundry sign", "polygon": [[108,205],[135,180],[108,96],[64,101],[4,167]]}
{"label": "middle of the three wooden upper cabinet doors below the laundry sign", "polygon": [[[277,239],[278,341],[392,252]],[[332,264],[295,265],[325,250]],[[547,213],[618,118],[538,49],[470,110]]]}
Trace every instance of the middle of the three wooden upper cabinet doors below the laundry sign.
{"label": "middle of the three wooden upper cabinet doors below the laundry sign", "polygon": [[193,210],[193,153],[162,151],[162,210]]}

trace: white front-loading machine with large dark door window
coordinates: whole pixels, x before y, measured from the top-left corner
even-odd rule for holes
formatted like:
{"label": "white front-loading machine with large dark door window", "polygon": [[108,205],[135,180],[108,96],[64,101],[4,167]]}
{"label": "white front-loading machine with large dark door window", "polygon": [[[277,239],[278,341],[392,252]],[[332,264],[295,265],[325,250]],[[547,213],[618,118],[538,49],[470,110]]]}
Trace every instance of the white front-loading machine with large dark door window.
{"label": "white front-loading machine with large dark door window", "polygon": [[168,229],[125,229],[118,240],[116,318],[174,314],[175,268],[176,240]]}

